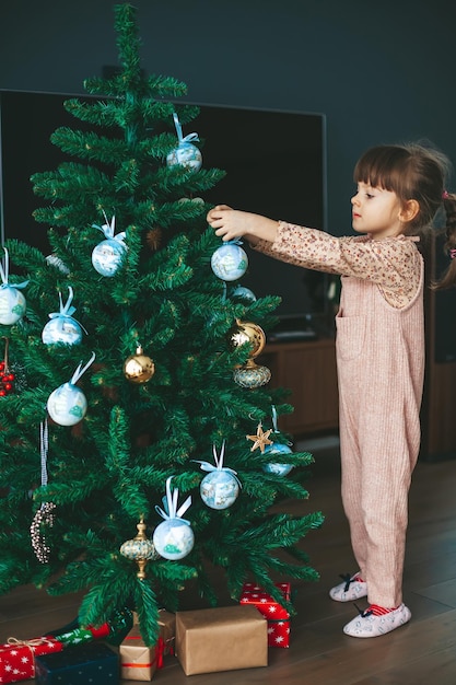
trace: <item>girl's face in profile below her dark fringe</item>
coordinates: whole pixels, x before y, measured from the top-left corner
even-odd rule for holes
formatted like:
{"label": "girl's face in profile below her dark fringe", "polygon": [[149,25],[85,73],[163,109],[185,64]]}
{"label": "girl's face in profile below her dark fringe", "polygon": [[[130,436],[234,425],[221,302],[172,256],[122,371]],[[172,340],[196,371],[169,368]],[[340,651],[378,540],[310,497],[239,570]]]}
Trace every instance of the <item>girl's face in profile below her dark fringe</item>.
{"label": "girl's face in profile below her dark fringe", "polygon": [[366,183],[359,183],[351,204],[352,225],[356,233],[367,233],[374,240],[404,233],[406,224],[401,205],[393,190],[373,188]]}

